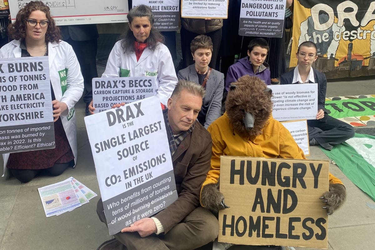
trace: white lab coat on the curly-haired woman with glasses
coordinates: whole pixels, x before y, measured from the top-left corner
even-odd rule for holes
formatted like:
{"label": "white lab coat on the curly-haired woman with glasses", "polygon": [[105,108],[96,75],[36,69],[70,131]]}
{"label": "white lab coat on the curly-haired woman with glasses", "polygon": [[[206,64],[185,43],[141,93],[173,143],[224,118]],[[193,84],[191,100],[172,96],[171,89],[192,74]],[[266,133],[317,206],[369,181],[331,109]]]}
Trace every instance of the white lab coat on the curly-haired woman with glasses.
{"label": "white lab coat on the curly-haired woman with glasses", "polygon": [[[13,40],[1,47],[0,58],[17,57],[21,57],[20,40]],[[66,111],[61,114],[60,118],[74,154],[74,162],[77,163],[77,130],[74,105],[78,102],[83,93],[81,67],[72,46],[64,41],[48,43],[48,63],[49,76],[56,100],[64,102],[68,106]],[[68,87],[63,94],[58,71],[64,69],[68,69],[66,79]],[[73,115],[69,115],[69,118],[71,117],[70,120],[68,120],[69,112],[74,112]],[[8,158],[9,154],[3,154],[4,173]]]}

